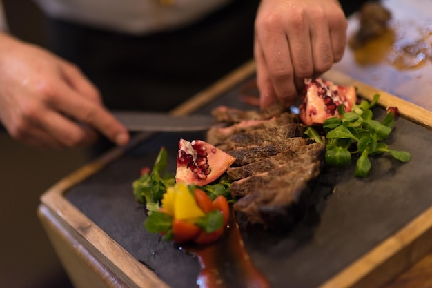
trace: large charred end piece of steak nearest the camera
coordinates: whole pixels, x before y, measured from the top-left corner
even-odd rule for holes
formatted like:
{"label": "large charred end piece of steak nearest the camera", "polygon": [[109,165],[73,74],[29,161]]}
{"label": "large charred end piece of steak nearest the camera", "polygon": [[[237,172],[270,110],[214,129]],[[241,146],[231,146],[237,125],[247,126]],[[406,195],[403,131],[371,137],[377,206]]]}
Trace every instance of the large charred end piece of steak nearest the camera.
{"label": "large charred end piece of steak nearest the camera", "polygon": [[320,166],[320,161],[316,161],[283,177],[274,176],[274,172],[255,177],[255,185],[249,185],[251,189],[246,196],[237,200],[233,207],[244,213],[251,223],[268,228],[288,227],[299,212],[297,208],[303,205],[302,198],[310,194],[309,185],[320,174]]}

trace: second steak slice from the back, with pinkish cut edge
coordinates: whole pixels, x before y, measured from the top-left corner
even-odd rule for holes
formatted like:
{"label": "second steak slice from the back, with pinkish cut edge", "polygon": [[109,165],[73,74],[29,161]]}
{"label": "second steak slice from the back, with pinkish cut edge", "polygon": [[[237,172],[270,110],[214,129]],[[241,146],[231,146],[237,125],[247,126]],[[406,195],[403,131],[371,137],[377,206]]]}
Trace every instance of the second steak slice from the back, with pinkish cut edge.
{"label": "second steak slice from the back, with pinkish cut edge", "polygon": [[286,112],[268,120],[244,120],[228,127],[211,127],[207,132],[206,139],[212,145],[219,145],[234,134],[299,122],[300,118],[298,115]]}

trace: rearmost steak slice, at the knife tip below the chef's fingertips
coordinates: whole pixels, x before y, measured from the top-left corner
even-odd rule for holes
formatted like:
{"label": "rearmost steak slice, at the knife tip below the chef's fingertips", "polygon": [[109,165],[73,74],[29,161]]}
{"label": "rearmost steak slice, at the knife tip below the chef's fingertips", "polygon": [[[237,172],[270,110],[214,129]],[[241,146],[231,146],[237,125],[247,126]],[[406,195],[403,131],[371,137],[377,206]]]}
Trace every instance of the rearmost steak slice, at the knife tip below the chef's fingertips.
{"label": "rearmost steak slice, at the knife tip below the chef's fingertips", "polygon": [[266,110],[239,110],[226,106],[219,106],[213,109],[211,114],[219,122],[239,123],[244,120],[264,120],[271,119],[273,116],[279,116],[286,109],[282,105],[273,105]]}

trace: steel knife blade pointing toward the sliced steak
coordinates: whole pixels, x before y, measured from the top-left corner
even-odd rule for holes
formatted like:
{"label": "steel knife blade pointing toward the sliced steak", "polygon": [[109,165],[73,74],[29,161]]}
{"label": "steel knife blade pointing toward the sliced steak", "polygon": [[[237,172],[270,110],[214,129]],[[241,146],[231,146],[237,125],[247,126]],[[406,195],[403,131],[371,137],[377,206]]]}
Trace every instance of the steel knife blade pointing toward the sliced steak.
{"label": "steel knife blade pointing toward the sliced steak", "polygon": [[202,131],[216,125],[210,115],[175,116],[159,112],[113,111],[112,115],[129,131],[181,132]]}

